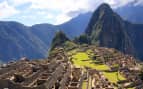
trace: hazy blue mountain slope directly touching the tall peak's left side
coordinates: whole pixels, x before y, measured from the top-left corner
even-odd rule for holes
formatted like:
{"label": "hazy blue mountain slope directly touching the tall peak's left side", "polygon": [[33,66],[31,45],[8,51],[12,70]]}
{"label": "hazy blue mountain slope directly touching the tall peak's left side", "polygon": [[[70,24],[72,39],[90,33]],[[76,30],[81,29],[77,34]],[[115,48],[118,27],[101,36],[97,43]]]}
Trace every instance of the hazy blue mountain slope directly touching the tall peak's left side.
{"label": "hazy blue mountain slope directly touching the tall peak's left side", "polygon": [[92,16],[92,13],[80,14],[76,18],[73,18],[69,22],[59,25],[58,27],[67,34],[69,38],[74,38],[76,36],[84,33],[85,28],[88,25],[88,22]]}

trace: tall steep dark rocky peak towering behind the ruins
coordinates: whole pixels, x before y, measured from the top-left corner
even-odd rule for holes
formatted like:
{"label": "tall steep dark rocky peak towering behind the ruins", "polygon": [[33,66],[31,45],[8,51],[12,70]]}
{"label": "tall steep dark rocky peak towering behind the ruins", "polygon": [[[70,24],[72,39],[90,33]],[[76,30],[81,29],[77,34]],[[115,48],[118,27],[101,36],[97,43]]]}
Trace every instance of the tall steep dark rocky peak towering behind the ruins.
{"label": "tall steep dark rocky peak towering behind the ruins", "polygon": [[102,4],[94,12],[85,32],[91,44],[118,49],[124,53],[133,53],[133,46],[124,21],[108,4]]}

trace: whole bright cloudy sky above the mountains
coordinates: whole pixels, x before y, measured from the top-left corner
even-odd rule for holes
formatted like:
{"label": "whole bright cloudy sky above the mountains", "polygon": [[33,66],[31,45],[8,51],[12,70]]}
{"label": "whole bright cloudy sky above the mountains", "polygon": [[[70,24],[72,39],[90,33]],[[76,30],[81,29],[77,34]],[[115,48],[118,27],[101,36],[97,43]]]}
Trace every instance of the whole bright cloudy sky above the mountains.
{"label": "whole bright cloudy sky above the mountains", "polygon": [[101,3],[118,8],[132,2],[143,4],[143,0],[0,0],[0,21],[17,21],[28,26],[58,25],[79,14],[93,12]]}

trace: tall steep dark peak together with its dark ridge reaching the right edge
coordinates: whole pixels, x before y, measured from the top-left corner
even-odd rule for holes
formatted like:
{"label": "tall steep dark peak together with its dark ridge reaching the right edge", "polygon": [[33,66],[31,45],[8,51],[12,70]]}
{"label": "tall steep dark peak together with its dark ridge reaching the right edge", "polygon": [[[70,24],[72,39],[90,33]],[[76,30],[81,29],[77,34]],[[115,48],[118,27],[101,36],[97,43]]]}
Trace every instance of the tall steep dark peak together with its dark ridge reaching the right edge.
{"label": "tall steep dark peak together with its dark ridge reaching the right edge", "polygon": [[141,29],[143,30],[142,25],[124,21],[108,4],[102,4],[93,13],[85,34],[91,44],[115,48],[141,58],[137,45],[140,44],[137,39],[141,38],[141,35],[139,37],[137,34],[143,33]]}

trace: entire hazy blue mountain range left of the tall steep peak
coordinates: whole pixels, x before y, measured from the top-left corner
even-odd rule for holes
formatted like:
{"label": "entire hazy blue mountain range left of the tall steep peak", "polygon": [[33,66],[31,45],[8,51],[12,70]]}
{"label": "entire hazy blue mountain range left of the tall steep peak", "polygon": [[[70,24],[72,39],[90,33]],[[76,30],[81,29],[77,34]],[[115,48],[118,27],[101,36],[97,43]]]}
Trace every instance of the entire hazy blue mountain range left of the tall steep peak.
{"label": "entire hazy blue mountain range left of the tall steep peak", "polygon": [[45,58],[51,41],[59,30],[69,38],[84,32],[91,14],[82,14],[61,25],[36,24],[31,27],[18,22],[0,22],[0,60],[16,60],[21,57],[30,59]]}

